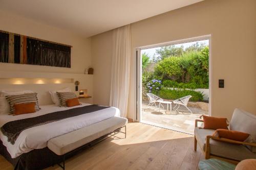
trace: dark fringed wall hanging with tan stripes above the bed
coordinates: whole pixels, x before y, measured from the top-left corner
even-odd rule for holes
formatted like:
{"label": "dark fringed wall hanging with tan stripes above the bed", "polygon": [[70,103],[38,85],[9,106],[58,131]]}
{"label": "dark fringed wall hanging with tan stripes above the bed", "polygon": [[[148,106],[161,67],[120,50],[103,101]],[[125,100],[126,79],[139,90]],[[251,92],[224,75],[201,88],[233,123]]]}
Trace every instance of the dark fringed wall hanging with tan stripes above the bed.
{"label": "dark fringed wall hanging with tan stripes above the bed", "polygon": [[71,46],[0,30],[0,62],[71,67]]}

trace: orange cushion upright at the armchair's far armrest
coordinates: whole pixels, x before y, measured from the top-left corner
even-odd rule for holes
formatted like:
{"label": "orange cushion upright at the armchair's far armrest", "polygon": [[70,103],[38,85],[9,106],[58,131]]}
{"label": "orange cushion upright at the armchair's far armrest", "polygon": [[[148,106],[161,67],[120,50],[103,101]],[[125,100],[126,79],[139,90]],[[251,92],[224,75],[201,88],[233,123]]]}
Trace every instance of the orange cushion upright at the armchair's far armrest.
{"label": "orange cushion upright at the armchair's far armrest", "polygon": [[228,129],[227,118],[210,117],[203,115],[204,129]]}

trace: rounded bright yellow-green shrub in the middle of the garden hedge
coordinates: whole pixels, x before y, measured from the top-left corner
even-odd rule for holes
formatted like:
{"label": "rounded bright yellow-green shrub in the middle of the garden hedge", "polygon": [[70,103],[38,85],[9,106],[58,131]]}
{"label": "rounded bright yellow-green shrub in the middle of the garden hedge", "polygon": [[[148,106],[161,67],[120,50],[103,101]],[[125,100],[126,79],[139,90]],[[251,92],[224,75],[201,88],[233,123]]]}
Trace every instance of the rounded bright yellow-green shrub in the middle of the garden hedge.
{"label": "rounded bright yellow-green shrub in the middle of the garden hedge", "polygon": [[183,75],[180,57],[167,57],[155,66],[155,74],[163,79],[177,80]]}

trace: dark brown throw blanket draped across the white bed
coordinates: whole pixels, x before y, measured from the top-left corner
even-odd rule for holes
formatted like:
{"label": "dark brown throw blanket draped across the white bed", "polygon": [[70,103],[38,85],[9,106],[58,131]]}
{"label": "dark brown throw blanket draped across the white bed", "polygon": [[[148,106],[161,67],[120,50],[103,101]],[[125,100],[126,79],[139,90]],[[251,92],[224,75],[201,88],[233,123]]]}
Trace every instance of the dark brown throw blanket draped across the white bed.
{"label": "dark brown throw blanket draped across the white bed", "polygon": [[73,108],[69,110],[52,112],[52,113],[44,114],[41,116],[14,120],[2,126],[1,131],[5,136],[8,137],[8,141],[14,144],[19,134],[28,128],[49,124],[52,122],[56,122],[58,120],[78,116],[81,114],[95,112],[105,108],[109,108],[109,107],[89,105],[89,106],[83,106],[83,107]]}

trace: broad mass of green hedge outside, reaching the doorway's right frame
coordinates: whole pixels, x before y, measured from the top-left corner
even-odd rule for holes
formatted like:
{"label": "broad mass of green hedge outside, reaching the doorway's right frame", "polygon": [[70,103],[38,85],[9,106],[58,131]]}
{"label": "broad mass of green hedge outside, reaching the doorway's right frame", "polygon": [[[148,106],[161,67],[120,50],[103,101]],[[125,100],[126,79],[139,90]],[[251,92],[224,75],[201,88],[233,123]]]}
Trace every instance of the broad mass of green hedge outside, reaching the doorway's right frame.
{"label": "broad mass of green hedge outside, reaching the doorway's right frame", "polygon": [[[180,57],[167,57],[155,66],[155,76],[169,80],[164,87],[209,88],[209,48],[200,52],[187,52]],[[172,81],[178,82],[174,83]]]}

